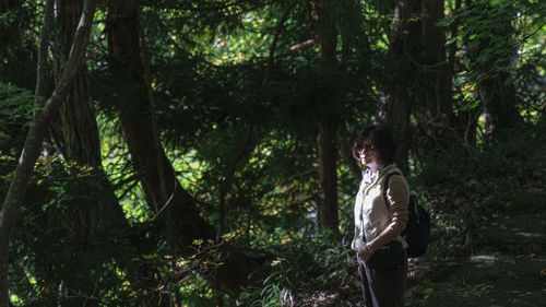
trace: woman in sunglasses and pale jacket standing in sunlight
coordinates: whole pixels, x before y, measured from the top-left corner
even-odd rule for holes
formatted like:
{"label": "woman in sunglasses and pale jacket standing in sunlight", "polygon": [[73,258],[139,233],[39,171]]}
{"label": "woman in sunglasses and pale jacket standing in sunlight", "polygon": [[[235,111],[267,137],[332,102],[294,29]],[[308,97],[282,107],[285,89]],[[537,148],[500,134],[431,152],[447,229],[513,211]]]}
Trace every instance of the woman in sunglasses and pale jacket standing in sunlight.
{"label": "woman in sunglasses and pale jacket standing in sunlight", "polygon": [[379,126],[365,128],[353,145],[353,156],[367,167],[356,196],[352,243],[366,307],[404,306],[407,244],[401,233],[410,190],[394,164],[395,149],[390,131]]}

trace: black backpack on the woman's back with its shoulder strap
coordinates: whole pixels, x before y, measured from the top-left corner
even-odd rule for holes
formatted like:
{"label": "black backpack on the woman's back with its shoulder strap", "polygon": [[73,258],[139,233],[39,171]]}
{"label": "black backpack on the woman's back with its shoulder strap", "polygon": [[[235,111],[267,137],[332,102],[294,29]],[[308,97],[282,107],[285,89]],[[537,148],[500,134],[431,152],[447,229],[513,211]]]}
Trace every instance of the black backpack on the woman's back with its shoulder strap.
{"label": "black backpack on the woman's back with its shoulder strap", "polygon": [[[387,176],[383,184],[383,197],[384,202],[389,205],[387,200],[387,189],[389,188],[389,179],[393,175],[402,175],[397,172],[391,173]],[[402,237],[407,241],[407,256],[410,258],[416,258],[423,256],[427,250],[428,240],[430,237],[430,216],[428,212],[418,204],[417,198],[410,194],[408,202],[408,217],[407,225],[404,232],[402,232]]]}

